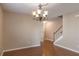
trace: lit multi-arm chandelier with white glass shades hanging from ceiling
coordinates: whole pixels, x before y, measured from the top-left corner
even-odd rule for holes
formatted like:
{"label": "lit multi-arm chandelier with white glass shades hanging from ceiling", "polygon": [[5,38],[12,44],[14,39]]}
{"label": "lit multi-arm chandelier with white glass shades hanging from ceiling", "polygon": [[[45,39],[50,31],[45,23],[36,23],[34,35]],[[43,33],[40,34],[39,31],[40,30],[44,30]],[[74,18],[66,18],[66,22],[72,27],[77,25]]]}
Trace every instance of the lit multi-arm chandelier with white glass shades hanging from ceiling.
{"label": "lit multi-arm chandelier with white glass shades hanging from ceiling", "polygon": [[37,10],[32,12],[33,19],[36,21],[44,21],[47,20],[48,11],[47,11],[48,4],[39,4]]}

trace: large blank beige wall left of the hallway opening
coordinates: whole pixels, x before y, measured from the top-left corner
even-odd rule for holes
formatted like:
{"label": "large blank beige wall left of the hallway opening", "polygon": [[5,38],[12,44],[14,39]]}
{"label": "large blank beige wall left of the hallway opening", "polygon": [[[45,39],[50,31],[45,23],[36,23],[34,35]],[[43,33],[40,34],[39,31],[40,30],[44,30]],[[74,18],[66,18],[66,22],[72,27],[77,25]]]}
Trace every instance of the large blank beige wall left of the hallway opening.
{"label": "large blank beige wall left of the hallway opening", "polygon": [[5,49],[40,45],[42,23],[26,14],[4,12]]}

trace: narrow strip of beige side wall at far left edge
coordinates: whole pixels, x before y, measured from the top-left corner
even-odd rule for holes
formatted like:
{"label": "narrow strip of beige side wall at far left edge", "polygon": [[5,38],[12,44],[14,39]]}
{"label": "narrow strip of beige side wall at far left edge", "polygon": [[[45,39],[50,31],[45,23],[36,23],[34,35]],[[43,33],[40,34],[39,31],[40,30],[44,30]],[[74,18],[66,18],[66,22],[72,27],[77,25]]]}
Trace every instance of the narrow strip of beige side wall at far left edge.
{"label": "narrow strip of beige side wall at far left edge", "polygon": [[[2,46],[2,39],[3,39],[3,12],[2,8],[0,6],[0,48],[3,48]],[[0,54],[2,50],[0,49]]]}

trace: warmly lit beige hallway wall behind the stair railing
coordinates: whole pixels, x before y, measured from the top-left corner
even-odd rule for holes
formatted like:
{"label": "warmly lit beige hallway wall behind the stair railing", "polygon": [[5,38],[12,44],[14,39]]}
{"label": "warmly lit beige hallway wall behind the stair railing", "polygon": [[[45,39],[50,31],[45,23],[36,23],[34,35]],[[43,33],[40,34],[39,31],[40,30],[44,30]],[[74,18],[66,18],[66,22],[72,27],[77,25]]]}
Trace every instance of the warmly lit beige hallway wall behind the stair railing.
{"label": "warmly lit beige hallway wall behind the stair railing", "polygon": [[46,22],[46,38],[53,41],[53,33],[62,25],[62,18],[53,18]]}

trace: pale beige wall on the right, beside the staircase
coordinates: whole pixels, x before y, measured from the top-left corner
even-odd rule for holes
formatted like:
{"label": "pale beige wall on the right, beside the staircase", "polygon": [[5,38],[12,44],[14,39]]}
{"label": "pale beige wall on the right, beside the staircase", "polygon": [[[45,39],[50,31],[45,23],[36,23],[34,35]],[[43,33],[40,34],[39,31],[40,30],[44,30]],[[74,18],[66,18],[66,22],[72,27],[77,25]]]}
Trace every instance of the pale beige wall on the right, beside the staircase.
{"label": "pale beige wall on the right, beside the staircase", "polygon": [[58,45],[79,52],[79,11],[63,15],[63,39]]}

